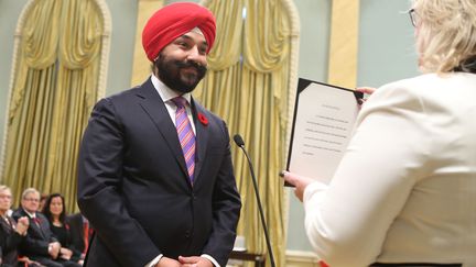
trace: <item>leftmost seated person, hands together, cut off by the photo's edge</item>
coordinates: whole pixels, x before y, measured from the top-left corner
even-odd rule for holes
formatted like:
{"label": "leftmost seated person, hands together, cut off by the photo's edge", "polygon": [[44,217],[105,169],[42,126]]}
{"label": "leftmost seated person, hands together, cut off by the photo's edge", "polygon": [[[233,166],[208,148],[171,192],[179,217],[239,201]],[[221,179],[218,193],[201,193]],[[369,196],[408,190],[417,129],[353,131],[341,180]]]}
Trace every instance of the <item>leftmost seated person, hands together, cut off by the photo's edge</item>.
{"label": "leftmost seated person, hands together, cut off by the photo's edge", "polygon": [[0,186],[0,252],[1,266],[18,265],[18,246],[24,240],[29,227],[26,216],[19,219],[19,223],[8,215],[12,204],[12,193],[9,187]]}

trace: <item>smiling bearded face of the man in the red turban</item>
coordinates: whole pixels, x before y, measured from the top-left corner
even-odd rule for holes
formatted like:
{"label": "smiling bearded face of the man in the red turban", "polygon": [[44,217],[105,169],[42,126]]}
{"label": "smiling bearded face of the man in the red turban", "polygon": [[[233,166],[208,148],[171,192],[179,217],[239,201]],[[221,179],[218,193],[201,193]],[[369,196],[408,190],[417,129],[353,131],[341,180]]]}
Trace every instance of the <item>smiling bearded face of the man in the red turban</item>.
{"label": "smiling bearded face of the man in the red turban", "polygon": [[166,45],[154,65],[159,79],[177,92],[191,92],[206,74],[205,37],[191,31]]}

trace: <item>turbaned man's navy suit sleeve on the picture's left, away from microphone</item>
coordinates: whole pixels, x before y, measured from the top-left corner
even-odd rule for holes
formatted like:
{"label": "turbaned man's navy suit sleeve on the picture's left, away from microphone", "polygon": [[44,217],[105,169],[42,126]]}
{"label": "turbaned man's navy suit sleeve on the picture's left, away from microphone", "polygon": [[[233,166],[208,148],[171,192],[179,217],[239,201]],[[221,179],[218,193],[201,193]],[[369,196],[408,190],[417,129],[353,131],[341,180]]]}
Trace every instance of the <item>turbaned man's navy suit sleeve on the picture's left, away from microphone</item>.
{"label": "turbaned man's navy suit sleeve on the picture's left, away from microphone", "polygon": [[143,267],[161,254],[125,207],[120,190],[125,136],[111,99],[99,101],[78,157],[78,205],[101,242],[125,266]]}

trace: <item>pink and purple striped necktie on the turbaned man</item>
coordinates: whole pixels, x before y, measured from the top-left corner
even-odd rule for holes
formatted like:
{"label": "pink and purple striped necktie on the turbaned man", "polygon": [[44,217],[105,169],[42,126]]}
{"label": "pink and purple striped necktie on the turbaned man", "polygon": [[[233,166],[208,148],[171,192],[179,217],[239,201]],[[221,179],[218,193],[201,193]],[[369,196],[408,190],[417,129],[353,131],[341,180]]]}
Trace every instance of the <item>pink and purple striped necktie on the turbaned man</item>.
{"label": "pink and purple striped necktie on the turbaned man", "polygon": [[185,157],[188,177],[193,185],[195,170],[195,134],[185,110],[187,101],[182,97],[176,97],[172,99],[172,102],[177,107],[175,111],[175,127]]}

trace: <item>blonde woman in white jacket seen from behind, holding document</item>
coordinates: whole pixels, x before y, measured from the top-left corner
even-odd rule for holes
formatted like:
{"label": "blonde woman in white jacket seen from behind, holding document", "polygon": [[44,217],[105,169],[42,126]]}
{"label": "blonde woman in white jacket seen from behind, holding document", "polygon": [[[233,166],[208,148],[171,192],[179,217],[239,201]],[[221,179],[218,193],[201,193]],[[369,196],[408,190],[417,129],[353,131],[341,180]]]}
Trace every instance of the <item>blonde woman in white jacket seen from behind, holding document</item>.
{"label": "blonde woman in white jacket seen from behind, holding document", "polygon": [[476,1],[409,12],[424,74],[370,96],[329,185],[284,173],[331,267],[476,266]]}

